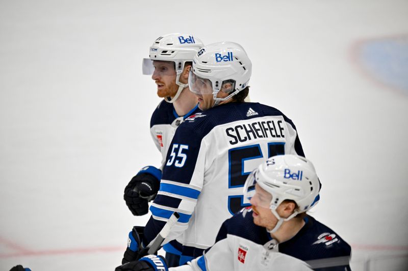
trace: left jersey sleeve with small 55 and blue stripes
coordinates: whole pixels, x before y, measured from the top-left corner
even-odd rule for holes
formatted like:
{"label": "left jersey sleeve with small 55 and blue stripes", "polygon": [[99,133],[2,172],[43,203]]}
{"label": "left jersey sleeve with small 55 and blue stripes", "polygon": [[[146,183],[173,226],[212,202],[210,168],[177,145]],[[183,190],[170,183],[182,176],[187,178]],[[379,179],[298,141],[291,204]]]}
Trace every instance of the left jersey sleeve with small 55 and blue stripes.
{"label": "left jersey sleeve with small 55 and blue stripes", "polygon": [[201,139],[189,125],[177,128],[167,152],[159,192],[150,206],[152,216],[145,227],[146,242],[155,238],[173,212],[178,212],[180,218],[163,244],[188,228],[203,184],[206,146],[201,146]]}

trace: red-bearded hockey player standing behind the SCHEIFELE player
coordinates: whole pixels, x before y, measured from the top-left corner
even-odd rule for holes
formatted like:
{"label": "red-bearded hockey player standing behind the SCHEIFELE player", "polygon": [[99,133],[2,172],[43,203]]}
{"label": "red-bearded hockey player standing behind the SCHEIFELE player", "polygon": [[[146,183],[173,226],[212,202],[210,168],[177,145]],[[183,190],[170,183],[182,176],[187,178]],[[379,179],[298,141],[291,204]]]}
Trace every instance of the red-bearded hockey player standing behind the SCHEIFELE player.
{"label": "red-bearded hockey player standing behind the SCHEIFELE player", "polygon": [[[143,59],[143,74],[152,74],[157,95],[164,98],[150,119],[150,134],[162,154],[162,166],[175,129],[199,111],[197,99],[188,89],[188,75],[192,59],[202,46],[192,35],[164,35],[150,47],[149,58]],[[143,167],[126,186],[123,197],[135,216],[147,214],[148,201],[159,189],[161,168]]]}

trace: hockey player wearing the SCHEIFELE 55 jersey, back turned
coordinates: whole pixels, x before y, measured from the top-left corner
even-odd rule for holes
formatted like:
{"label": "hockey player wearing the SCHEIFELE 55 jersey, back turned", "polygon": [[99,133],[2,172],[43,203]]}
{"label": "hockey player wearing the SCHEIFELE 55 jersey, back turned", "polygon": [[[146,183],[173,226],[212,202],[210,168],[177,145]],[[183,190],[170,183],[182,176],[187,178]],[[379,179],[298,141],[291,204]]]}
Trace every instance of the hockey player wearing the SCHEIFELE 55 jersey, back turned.
{"label": "hockey player wearing the SCHEIFELE 55 jersey, back turned", "polygon": [[[180,264],[211,247],[222,222],[249,205],[242,188],[256,166],[277,154],[304,156],[288,117],[273,107],[243,102],[250,75],[251,62],[237,43],[205,46],[193,59],[190,91],[205,111],[176,130],[142,237],[148,245],[178,212],[181,217],[164,244],[175,254],[182,251]],[[129,236],[130,244],[140,244],[136,231]],[[135,260],[137,250],[129,246],[123,262]]]}

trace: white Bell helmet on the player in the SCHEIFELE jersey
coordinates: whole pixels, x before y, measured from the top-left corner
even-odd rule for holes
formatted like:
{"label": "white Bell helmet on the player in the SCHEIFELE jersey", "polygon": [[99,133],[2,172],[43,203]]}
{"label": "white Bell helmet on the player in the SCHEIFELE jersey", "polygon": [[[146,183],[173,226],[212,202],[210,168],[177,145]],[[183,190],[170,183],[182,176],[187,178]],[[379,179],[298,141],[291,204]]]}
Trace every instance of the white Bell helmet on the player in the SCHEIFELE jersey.
{"label": "white Bell helmet on the player in the SCHEIFELE jersey", "polygon": [[[189,76],[190,91],[213,94],[215,106],[242,91],[248,85],[251,72],[251,61],[241,45],[235,42],[209,44],[194,56]],[[221,88],[229,93],[227,97],[217,97]]]}

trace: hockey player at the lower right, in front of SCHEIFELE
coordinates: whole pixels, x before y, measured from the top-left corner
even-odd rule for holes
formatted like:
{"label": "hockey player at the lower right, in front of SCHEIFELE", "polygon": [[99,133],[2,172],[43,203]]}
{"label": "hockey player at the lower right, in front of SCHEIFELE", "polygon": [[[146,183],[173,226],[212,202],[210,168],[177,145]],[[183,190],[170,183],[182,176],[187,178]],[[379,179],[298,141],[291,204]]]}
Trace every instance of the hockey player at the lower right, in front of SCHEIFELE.
{"label": "hockey player at the lower right, in front of SCHEIFELE", "polygon": [[[169,270],[301,270],[303,261],[316,270],[350,270],[350,246],[305,213],[317,204],[318,190],[309,160],[295,155],[269,158],[246,180],[244,193],[252,208],[226,220],[217,242],[202,256]],[[116,270],[148,271],[165,264],[149,255]]]}

